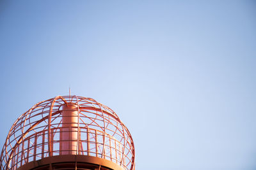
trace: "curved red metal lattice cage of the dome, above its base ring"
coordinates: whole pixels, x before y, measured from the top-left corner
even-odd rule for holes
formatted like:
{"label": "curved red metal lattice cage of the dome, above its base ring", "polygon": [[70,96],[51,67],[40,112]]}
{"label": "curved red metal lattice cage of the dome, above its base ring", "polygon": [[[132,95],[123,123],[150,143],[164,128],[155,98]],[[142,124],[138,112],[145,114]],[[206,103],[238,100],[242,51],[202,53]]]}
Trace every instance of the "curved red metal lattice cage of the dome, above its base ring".
{"label": "curved red metal lattice cage of the dome, above its base ring", "polygon": [[[61,125],[61,106],[77,108],[76,127]],[[72,132],[72,138],[63,137]],[[74,138],[76,134],[76,138]],[[74,150],[63,150],[72,142]],[[134,170],[134,143],[116,113],[92,98],[57,96],[35,104],[12,125],[1,153],[1,169],[17,169],[27,162],[54,155],[90,155]]]}

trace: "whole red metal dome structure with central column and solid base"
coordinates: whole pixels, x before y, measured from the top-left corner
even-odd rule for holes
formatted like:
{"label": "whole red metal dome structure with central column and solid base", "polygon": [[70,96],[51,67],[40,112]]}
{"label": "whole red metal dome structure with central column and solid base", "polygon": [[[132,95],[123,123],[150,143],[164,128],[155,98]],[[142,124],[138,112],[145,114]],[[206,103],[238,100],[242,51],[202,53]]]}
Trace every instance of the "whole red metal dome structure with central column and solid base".
{"label": "whole red metal dome structure with central column and solid base", "polygon": [[134,143],[116,113],[92,98],[57,96],[12,125],[1,169],[134,170]]}

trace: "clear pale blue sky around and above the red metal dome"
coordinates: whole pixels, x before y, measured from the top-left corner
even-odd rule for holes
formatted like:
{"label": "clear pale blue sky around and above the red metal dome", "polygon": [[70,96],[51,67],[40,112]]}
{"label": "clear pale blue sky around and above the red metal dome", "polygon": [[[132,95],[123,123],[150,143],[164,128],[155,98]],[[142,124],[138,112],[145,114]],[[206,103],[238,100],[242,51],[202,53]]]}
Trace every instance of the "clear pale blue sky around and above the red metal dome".
{"label": "clear pale blue sky around and above the red metal dome", "polygon": [[33,104],[92,97],[136,169],[256,169],[255,1],[0,1],[0,144]]}

